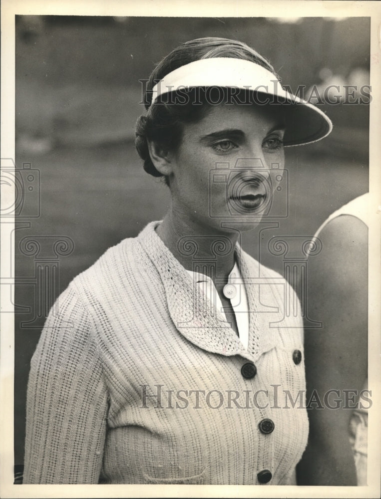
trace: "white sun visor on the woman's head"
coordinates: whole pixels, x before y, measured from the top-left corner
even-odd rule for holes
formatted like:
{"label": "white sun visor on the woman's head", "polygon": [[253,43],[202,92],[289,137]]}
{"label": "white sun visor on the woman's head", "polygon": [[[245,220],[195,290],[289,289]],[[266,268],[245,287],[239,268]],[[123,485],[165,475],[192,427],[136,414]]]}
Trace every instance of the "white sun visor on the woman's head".
{"label": "white sun visor on the woman's head", "polygon": [[[285,90],[268,69],[243,59],[212,57],[175,69],[152,89],[151,106],[159,96],[193,87],[231,87],[252,90],[256,102],[282,104],[285,109],[285,146],[309,144],[332,131],[332,122],[319,108]],[[260,95],[265,98],[261,99]]]}

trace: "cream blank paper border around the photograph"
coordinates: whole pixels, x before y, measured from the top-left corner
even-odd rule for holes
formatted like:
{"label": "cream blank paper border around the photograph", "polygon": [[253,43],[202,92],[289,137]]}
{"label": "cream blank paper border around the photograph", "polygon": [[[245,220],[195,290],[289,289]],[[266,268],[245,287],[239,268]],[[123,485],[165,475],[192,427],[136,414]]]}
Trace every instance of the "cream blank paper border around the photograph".
{"label": "cream blank paper border around the photograph", "polygon": [[[0,337],[0,497],[1,498],[123,498],[123,497],[261,497],[261,498],[374,498],[380,497],[381,394],[380,394],[380,216],[381,216],[381,4],[378,1],[308,0],[60,0],[47,5],[38,0],[1,2],[1,158],[15,159],[15,15],[120,15],[189,17],[371,17],[370,173],[372,225],[369,231],[369,387],[373,406],[369,419],[367,487],[306,486],[186,486],[186,485],[13,485],[13,314],[1,313]],[[7,199],[7,206],[14,202]],[[1,220],[1,236],[8,234]],[[1,237],[1,275],[14,268],[14,248]],[[3,287],[3,286],[2,286]],[[378,415],[377,415],[378,413]],[[285,489],[285,487],[287,487]]]}

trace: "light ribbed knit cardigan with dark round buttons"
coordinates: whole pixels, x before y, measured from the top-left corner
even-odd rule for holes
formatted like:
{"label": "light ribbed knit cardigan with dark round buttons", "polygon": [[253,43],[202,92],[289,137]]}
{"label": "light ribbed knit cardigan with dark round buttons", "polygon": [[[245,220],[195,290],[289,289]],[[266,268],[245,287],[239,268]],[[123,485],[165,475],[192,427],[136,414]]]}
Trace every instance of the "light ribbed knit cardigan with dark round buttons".
{"label": "light ribbed knit cardigan with dark round buttons", "polygon": [[[24,483],[254,485],[267,470],[279,485],[301,459],[308,419],[294,291],[237,245],[245,350],[157,224],[107,250],[50,312],[31,360]],[[252,378],[241,373],[247,363]]]}

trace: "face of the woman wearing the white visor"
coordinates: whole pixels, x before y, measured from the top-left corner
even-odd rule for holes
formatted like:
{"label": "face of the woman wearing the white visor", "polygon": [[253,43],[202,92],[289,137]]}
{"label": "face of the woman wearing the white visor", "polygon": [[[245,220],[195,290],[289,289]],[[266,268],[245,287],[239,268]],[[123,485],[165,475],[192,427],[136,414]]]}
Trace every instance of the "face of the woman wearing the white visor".
{"label": "face of the woman wearing the white visor", "polygon": [[281,106],[211,106],[184,125],[170,154],[173,212],[208,229],[221,230],[222,222],[255,227],[283,181],[283,135]]}

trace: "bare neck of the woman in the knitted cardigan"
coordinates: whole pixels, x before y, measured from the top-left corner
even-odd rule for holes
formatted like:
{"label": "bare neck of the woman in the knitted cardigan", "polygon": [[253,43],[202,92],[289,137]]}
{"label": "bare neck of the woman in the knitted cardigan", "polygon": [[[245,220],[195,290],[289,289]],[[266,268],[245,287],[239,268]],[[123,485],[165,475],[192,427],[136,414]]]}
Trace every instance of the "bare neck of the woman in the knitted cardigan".
{"label": "bare neck of the woman in the knitted cardigan", "polygon": [[234,266],[237,232],[222,232],[169,210],[156,233],[187,270],[227,279]]}

